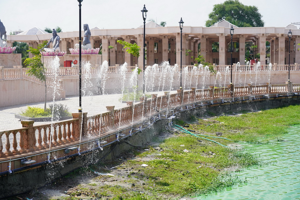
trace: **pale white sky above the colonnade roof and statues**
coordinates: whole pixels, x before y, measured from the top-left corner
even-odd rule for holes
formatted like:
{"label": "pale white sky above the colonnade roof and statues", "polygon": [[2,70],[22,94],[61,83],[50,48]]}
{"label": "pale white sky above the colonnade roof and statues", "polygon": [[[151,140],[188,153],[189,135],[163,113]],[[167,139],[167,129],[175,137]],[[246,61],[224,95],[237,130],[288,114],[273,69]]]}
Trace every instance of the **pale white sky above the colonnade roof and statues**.
{"label": "pale white sky above the colonnade roof and statues", "polygon": [[[205,2],[205,3],[203,3]],[[224,0],[83,0],[83,24],[89,28],[136,28],[143,24],[142,13],[146,4],[147,20],[166,21],[167,26],[178,26],[182,17],[185,26],[205,26],[214,4]],[[240,0],[244,5],[255,5],[262,14],[266,27],[285,27],[300,22],[299,0]],[[79,30],[77,0],[0,0],[0,20],[7,33],[35,26],[44,29],[61,27],[63,32]]]}

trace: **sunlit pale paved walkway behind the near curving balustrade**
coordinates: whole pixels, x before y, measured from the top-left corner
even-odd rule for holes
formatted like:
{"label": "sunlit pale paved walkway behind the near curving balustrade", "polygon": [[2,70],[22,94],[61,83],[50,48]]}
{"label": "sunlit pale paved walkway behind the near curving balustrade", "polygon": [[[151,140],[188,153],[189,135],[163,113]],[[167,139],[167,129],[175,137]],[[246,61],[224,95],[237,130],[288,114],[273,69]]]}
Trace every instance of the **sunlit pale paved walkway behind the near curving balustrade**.
{"label": "sunlit pale paved walkway behind the near curving balustrade", "polygon": [[[171,91],[171,94],[176,91]],[[164,92],[153,92],[158,96],[164,94]],[[106,106],[115,106],[115,109],[123,108],[127,106],[126,103],[121,103],[121,94],[110,95],[97,95],[90,97],[82,97],[82,112],[88,112],[88,116],[97,115],[103,112],[107,112]],[[47,107],[53,102],[47,102]],[[69,112],[78,112],[79,97],[66,97],[65,100],[55,101],[55,103],[62,103],[67,105]],[[0,130],[12,130],[22,127],[18,118],[15,118],[15,114],[19,114],[25,111],[27,106],[36,106],[44,108],[44,102],[27,103],[15,106],[0,107]],[[35,122],[35,125],[44,124],[45,122]]]}

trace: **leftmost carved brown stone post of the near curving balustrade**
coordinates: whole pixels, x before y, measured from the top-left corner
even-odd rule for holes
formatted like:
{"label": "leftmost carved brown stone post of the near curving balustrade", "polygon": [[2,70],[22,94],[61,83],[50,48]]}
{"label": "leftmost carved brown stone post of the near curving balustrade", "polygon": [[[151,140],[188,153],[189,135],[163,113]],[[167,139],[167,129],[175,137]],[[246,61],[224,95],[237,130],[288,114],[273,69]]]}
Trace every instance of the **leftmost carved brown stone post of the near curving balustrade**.
{"label": "leftmost carved brown stone post of the near curving balustrade", "polygon": [[34,149],[35,129],[33,128],[33,123],[35,123],[35,121],[29,121],[29,120],[21,121],[22,127],[28,128],[23,133],[24,148],[28,152],[35,151],[35,149]]}

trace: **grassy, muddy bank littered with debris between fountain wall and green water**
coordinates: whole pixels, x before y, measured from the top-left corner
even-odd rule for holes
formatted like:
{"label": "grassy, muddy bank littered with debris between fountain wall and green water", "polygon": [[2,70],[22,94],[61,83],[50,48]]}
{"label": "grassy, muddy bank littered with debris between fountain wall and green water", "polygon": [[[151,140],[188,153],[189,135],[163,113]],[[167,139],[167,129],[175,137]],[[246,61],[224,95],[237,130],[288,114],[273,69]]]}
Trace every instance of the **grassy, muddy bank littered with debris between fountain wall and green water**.
{"label": "grassy, muddy bank littered with debris between fountain wall and green water", "polygon": [[[258,155],[244,152],[242,145],[280,139],[289,126],[300,124],[300,106],[221,116],[206,114],[201,118],[190,114],[190,121],[186,121],[190,127],[186,129],[207,136],[221,132],[221,137],[245,142],[199,138],[170,127],[165,130],[169,137],[160,143],[133,146],[113,163],[79,169],[31,195],[39,199],[179,199],[207,194],[246,181],[233,176],[232,171],[268,164],[262,163]],[[180,120],[173,123],[183,125]],[[49,190],[59,192],[51,196]]]}

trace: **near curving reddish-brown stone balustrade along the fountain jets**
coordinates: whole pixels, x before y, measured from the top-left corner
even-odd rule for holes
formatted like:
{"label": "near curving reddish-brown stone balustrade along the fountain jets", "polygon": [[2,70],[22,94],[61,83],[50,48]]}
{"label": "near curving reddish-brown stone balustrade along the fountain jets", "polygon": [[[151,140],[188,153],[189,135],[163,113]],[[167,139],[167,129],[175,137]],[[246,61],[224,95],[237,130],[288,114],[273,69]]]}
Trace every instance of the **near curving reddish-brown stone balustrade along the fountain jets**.
{"label": "near curving reddish-brown stone balustrade along the fountain jets", "polygon": [[[231,92],[231,88],[233,93]],[[119,127],[131,126],[137,121],[142,122],[158,112],[172,109],[180,105],[193,102],[211,101],[231,97],[245,97],[252,95],[268,95],[280,93],[294,93],[300,91],[300,83],[270,84],[205,89],[191,88],[188,91],[177,90],[175,94],[165,92],[162,96],[152,94],[152,97],[140,97],[139,103],[127,102],[127,107],[114,109],[115,106],[107,106],[107,112],[87,117],[87,113],[73,113],[73,119],[34,125],[34,121],[21,121],[22,128],[0,131],[0,160],[6,157],[18,156],[34,151],[49,151],[50,148],[60,148],[79,140],[91,140],[93,138],[113,141]],[[81,132],[82,131],[82,132]],[[80,136],[80,133],[82,135]],[[4,142],[5,141],[5,142]],[[3,145],[5,143],[5,145]],[[4,147],[4,148],[3,148]],[[86,147],[88,148],[88,147]]]}

